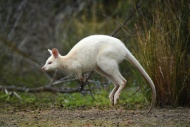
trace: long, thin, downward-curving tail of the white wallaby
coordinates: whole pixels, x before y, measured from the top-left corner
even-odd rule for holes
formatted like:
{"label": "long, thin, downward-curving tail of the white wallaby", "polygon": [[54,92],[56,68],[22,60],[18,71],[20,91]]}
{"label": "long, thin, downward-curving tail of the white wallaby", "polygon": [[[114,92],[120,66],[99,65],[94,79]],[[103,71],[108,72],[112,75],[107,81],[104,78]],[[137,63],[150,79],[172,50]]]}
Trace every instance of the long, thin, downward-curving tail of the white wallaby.
{"label": "long, thin, downward-curving tail of the white wallaby", "polygon": [[149,83],[149,85],[152,89],[152,102],[151,102],[151,106],[147,112],[147,113],[149,113],[152,110],[152,108],[154,107],[155,102],[156,102],[156,89],[155,89],[154,83],[153,83],[152,79],[149,77],[149,75],[146,73],[144,68],[140,65],[140,63],[137,61],[137,59],[130,52],[129,52],[129,55],[126,57],[126,60],[128,60],[133,65],[135,65],[135,67],[137,67],[137,69],[140,71],[140,73],[143,75],[143,77],[146,79],[146,81]]}

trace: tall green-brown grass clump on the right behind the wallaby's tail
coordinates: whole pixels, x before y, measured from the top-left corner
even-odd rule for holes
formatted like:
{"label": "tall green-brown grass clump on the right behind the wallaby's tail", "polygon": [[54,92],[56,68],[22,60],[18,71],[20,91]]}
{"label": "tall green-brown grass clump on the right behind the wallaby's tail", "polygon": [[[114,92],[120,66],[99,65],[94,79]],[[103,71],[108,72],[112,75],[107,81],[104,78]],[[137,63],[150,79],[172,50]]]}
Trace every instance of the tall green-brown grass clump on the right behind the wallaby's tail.
{"label": "tall green-brown grass clump on the right behind the wallaby's tail", "polygon": [[141,16],[135,25],[135,56],[153,79],[157,102],[162,105],[190,105],[188,6],[183,0],[157,1],[150,6],[150,18]]}

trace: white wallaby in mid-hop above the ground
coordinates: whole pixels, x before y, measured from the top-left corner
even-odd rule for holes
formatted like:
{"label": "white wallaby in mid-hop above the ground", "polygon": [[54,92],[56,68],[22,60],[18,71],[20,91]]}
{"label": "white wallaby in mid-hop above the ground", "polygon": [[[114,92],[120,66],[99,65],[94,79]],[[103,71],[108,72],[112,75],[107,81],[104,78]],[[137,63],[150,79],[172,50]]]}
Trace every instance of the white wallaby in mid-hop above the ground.
{"label": "white wallaby in mid-hop above the ground", "polygon": [[43,71],[65,70],[77,74],[78,78],[83,80],[83,72],[95,70],[115,85],[109,95],[112,105],[117,104],[120,93],[127,83],[119,71],[118,64],[124,59],[128,60],[150,84],[152,103],[147,113],[154,107],[156,90],[153,81],[119,39],[107,35],[92,35],[79,41],[66,56],[61,56],[56,48],[48,51],[51,56],[42,67]]}

